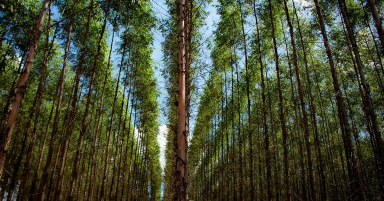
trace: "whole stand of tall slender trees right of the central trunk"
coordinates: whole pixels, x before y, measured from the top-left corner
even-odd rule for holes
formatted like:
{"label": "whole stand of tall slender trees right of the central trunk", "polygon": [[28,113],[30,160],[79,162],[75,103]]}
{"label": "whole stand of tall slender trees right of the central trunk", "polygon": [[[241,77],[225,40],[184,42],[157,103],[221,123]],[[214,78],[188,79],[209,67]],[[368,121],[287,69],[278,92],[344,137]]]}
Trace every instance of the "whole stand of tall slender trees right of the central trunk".
{"label": "whole stand of tall slender trees right of the central trunk", "polygon": [[[184,160],[186,197],[382,199],[382,7],[380,0],[218,0],[212,65]],[[170,128],[176,118],[169,114]],[[178,160],[173,130],[167,154]],[[168,161],[166,169],[178,164]],[[166,179],[176,189],[165,194],[179,198],[172,173]]]}

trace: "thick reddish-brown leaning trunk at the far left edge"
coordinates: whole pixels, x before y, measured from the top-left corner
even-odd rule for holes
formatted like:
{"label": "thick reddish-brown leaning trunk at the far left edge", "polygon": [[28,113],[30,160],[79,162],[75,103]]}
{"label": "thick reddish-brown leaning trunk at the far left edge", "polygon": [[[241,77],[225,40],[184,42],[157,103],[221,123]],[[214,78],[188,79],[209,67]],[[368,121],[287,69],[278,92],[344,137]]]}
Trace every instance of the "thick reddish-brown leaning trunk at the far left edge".
{"label": "thick reddish-brown leaning trunk at the far left edge", "polygon": [[24,66],[24,72],[21,74],[21,78],[18,82],[18,86],[17,86],[18,90],[16,93],[15,100],[13,102],[12,110],[10,111],[6,127],[1,131],[2,139],[1,139],[1,145],[0,145],[0,178],[2,175],[2,169],[4,167],[4,163],[5,163],[6,152],[8,150],[10,138],[12,136],[13,127],[14,127],[14,124],[16,123],[17,110],[18,110],[18,107],[20,106],[22,96],[25,92],[26,81],[28,79],[30,67],[32,66],[33,58],[36,53],[37,42],[38,42],[38,38],[40,37],[41,27],[44,22],[44,16],[45,16],[45,12],[46,12],[46,8],[48,7],[48,4],[49,4],[49,0],[44,0],[44,2],[42,3],[36,28],[33,34],[33,41],[29,47],[28,57],[26,59],[26,63]]}

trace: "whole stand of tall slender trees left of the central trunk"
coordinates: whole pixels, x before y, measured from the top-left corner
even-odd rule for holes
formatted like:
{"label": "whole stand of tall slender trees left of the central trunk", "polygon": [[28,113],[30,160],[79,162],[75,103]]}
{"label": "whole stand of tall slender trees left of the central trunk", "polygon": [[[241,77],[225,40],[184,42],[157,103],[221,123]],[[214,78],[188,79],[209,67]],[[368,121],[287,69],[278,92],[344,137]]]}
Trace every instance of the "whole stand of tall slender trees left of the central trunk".
{"label": "whole stand of tall slender trees left of the central trunk", "polygon": [[151,3],[0,5],[0,199],[157,199]]}

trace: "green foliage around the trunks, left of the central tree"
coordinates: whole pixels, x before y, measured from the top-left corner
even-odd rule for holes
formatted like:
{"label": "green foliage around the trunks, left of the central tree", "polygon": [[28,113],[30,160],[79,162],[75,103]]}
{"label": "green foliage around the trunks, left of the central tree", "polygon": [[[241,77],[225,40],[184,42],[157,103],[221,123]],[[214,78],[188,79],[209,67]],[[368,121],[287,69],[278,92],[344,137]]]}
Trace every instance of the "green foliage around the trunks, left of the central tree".
{"label": "green foliage around the trunks, left of the central tree", "polygon": [[[91,5],[91,2],[93,2],[93,5]],[[73,3],[76,4],[72,10]],[[40,6],[40,0],[9,0],[0,3],[0,29],[1,33],[4,31],[4,36],[1,37],[2,48],[0,51],[2,63],[0,69],[0,105],[1,111],[4,111],[2,113],[4,118],[1,119],[1,128],[6,122],[9,102],[13,101],[14,89],[23,70],[26,55],[23,55],[22,52],[27,50],[26,47],[29,45]],[[85,26],[90,6],[93,9],[89,21],[89,33],[85,36]],[[106,199],[117,199],[117,196],[126,196],[154,200],[155,197],[160,196],[161,167],[159,144],[157,142],[159,132],[157,96],[159,93],[154,76],[154,62],[151,59],[153,50],[151,47],[153,42],[152,30],[155,24],[151,2],[58,0],[53,1],[51,7],[50,26],[46,25],[48,17],[45,17],[38,49],[11,138],[7,162],[4,167],[6,173],[1,178],[0,196],[2,197],[4,193],[6,196],[6,194],[13,191],[13,196],[16,199],[18,194],[21,195],[24,191],[28,192],[32,187],[31,185],[37,185],[33,186],[35,187],[34,192],[39,194],[41,192],[38,187],[43,181],[47,180],[56,183],[59,182],[59,179],[62,179],[64,181],[62,187],[48,186],[49,190],[45,197],[46,199],[53,199],[53,197],[56,197],[57,191],[61,191],[61,199],[67,198],[70,188],[69,181],[72,177],[71,172],[74,168],[72,164],[75,159],[76,144],[85,110],[86,94],[91,80],[95,52],[100,40],[100,53],[96,62],[91,102],[87,121],[85,122],[85,136],[80,147],[79,174],[75,178],[76,182],[74,182],[76,197],[77,199],[90,198],[91,194],[89,192],[91,192],[90,189],[92,188],[93,199],[99,199],[96,197],[99,196],[105,164],[110,169],[104,186],[107,191],[107,194],[104,195]],[[108,14],[106,30],[103,35],[100,35],[106,14]],[[53,119],[55,118],[59,92],[57,88],[60,84],[65,42],[72,16],[74,16],[73,27],[71,29],[66,70],[64,71],[63,96],[57,122],[58,130],[57,136],[53,140],[53,162],[49,165],[48,178],[42,178],[43,167],[49,154],[49,141],[53,136],[52,124],[54,123]],[[49,44],[54,38],[54,31],[57,30],[52,50],[47,55],[43,54],[46,42],[45,30],[49,32]],[[112,31],[114,42],[110,46]],[[68,109],[72,101],[71,94],[73,93],[78,69],[77,63],[82,51],[83,40],[86,43],[79,80],[79,93],[77,94],[78,103],[75,108],[75,126],[69,136],[70,138],[65,139]],[[116,80],[116,69],[119,68],[123,46],[126,47],[126,51],[121,67],[122,75],[120,80]],[[112,48],[111,55],[109,55],[110,48]],[[23,60],[21,60],[22,56],[24,57]],[[47,68],[45,76],[41,77],[41,66],[45,57],[47,57]],[[43,84],[41,112],[36,116],[36,103],[33,100],[37,95],[39,82]],[[117,82],[119,82],[118,88],[116,88]],[[105,89],[102,92],[104,84]],[[117,90],[117,98],[114,101],[115,90]],[[100,108],[101,99],[103,104]],[[113,106],[113,104],[115,105]],[[115,107],[113,117],[111,116],[112,107]],[[32,119],[29,119],[30,117]],[[35,126],[33,123],[35,117],[38,119],[36,145],[32,150],[32,163],[29,167],[26,167],[24,165],[28,159],[26,154],[32,140],[30,134]],[[98,117],[100,118],[99,123]],[[112,122],[111,119],[113,119]],[[32,123],[28,127],[28,121],[30,120],[32,120]],[[111,127],[109,127],[109,124],[111,124]],[[107,138],[109,129],[112,131],[110,139]],[[65,144],[65,140],[67,140],[68,144]],[[110,141],[109,145],[108,141]],[[93,148],[94,142],[96,144]],[[68,147],[65,153],[66,156],[64,155],[62,160],[65,161],[63,167],[66,168],[63,169],[63,178],[59,178],[59,165],[61,165],[62,147],[64,145]],[[108,158],[105,158],[107,146],[109,146],[109,154]],[[22,147],[25,148],[22,149]],[[24,152],[17,151],[20,149],[24,150]],[[94,168],[91,163],[93,153],[95,154]],[[41,160],[39,159],[40,154],[42,156]],[[11,158],[16,158],[16,160]],[[17,164],[17,158],[21,159],[19,164]],[[54,162],[55,160],[56,162]],[[62,164],[64,165],[64,163]],[[17,165],[20,166],[18,170],[15,168]],[[118,168],[115,168],[117,166]],[[23,168],[28,168],[28,180],[24,180],[24,177],[22,177]],[[90,172],[91,168],[93,168],[94,172]],[[34,173],[36,174],[34,175]],[[12,175],[16,175],[16,182],[25,182],[25,189],[12,189],[10,187],[9,183],[12,182]],[[90,181],[93,182],[92,186],[90,186]],[[122,188],[122,185],[125,185],[125,187]]]}

